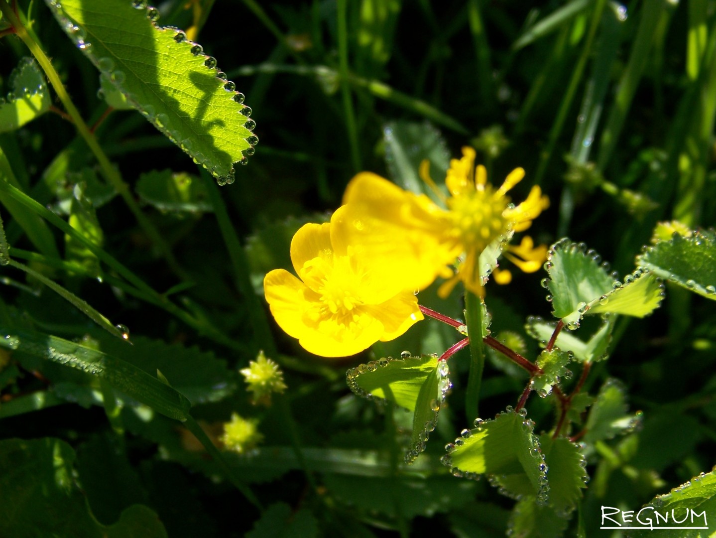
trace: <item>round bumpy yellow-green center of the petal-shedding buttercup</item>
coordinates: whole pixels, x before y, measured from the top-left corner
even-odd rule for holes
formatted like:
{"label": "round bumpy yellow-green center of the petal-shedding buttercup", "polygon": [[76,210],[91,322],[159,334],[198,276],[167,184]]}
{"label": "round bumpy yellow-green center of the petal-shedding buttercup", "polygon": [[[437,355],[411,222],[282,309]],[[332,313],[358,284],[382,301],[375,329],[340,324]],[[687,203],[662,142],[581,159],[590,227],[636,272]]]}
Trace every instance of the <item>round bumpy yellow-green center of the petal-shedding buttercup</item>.
{"label": "round bumpy yellow-green center of the petal-shedding buttercup", "polygon": [[509,198],[496,193],[489,184],[453,196],[448,200],[452,235],[466,251],[483,251],[508,231],[510,221],[503,212],[509,203]]}

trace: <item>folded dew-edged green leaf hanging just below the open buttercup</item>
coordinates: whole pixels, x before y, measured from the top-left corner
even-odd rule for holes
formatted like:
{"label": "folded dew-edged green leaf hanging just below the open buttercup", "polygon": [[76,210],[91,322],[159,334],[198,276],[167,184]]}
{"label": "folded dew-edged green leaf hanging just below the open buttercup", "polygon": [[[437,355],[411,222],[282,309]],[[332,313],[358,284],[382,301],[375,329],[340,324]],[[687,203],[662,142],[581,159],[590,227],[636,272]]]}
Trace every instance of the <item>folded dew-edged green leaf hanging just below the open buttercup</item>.
{"label": "folded dew-edged green leaf hanging just below the open buttercup", "polygon": [[[407,353],[406,353],[407,355]],[[413,412],[411,448],[405,462],[425,451],[437,414],[452,384],[448,363],[435,355],[392,357],[370,361],[346,373],[349,388],[364,398],[380,398]]]}

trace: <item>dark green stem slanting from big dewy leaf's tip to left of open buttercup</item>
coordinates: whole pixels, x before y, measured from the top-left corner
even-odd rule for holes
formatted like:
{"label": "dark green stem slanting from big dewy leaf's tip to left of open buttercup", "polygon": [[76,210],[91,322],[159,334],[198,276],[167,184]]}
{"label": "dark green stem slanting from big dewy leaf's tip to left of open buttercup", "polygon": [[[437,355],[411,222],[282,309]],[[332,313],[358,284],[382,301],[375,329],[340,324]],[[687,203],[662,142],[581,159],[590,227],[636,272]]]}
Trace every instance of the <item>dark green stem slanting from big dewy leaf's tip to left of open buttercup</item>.
{"label": "dark green stem slanting from big dewy leaf's tip to left of open buttercup", "polygon": [[241,241],[239,241],[238,235],[236,234],[236,229],[234,229],[233,224],[231,224],[231,218],[228,216],[226,204],[223,198],[221,198],[221,193],[218,191],[216,182],[213,181],[205,170],[201,170],[201,176],[207,186],[209,198],[211,198],[211,204],[214,208],[214,214],[216,215],[216,221],[221,231],[221,237],[223,238],[224,244],[226,244],[226,250],[228,250],[228,255],[231,258],[231,265],[233,266],[234,276],[236,277],[236,287],[246,301],[246,309],[248,310],[255,340],[258,343],[259,349],[263,349],[266,355],[274,357],[276,356],[274,337],[271,335],[269,321],[266,319],[266,310],[263,309],[263,305],[253,292],[246,251],[243,250]]}

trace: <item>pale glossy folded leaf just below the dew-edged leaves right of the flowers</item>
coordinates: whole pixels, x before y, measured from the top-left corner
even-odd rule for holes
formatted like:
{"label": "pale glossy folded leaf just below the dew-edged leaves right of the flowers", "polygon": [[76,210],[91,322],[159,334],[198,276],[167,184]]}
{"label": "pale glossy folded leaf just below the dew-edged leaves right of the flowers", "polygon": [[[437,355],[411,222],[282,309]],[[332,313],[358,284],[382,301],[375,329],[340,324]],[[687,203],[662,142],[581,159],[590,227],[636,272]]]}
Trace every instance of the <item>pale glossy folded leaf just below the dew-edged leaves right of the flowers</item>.
{"label": "pale glossy folded leaf just below the dew-edged leaves right of the flowers", "polygon": [[[614,328],[613,320],[613,317],[608,317],[604,320],[587,342],[570,332],[561,331],[557,335],[555,345],[561,350],[571,351],[574,353],[574,358],[581,362],[604,360],[609,355],[607,350],[609,342],[611,342],[611,330]],[[541,317],[531,317],[525,325],[527,334],[538,340],[542,347],[546,346],[555,327],[555,322],[546,322]]]}

